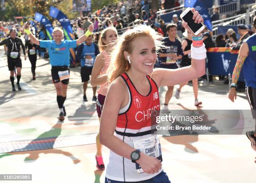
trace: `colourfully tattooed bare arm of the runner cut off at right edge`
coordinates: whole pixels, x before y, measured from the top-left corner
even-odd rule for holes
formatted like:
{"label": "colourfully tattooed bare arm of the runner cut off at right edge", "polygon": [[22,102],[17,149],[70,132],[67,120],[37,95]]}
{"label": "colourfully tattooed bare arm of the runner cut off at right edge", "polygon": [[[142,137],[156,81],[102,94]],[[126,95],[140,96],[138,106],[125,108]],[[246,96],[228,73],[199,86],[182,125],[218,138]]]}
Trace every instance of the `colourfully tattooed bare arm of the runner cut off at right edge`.
{"label": "colourfully tattooed bare arm of the runner cut off at right edge", "polygon": [[[248,48],[248,44],[247,43],[243,43],[239,49],[239,54],[238,54],[238,58],[236,60],[236,66],[233,70],[233,74],[232,74],[232,81],[231,84],[235,84],[238,81],[240,72],[241,72],[241,68],[243,66],[244,61],[246,60],[246,57],[248,56],[249,53],[249,48]],[[228,94],[228,98],[234,102],[234,99],[236,100],[236,88],[235,87],[231,87],[229,94]]]}

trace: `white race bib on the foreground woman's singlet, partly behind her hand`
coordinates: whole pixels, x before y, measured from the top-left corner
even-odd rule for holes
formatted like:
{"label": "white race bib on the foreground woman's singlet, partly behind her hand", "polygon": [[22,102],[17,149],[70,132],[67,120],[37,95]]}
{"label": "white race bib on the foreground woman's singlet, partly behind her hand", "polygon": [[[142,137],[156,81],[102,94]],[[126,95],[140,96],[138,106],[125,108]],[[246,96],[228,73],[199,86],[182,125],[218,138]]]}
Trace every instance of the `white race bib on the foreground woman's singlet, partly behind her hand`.
{"label": "white race bib on the foreground woman's singlet, partly behind her hand", "polygon": [[[144,153],[148,156],[153,156],[157,159],[159,159],[161,162],[162,159],[162,153],[161,153],[161,144],[159,141],[158,136],[151,136],[149,138],[143,138],[140,140],[133,140],[134,148],[141,151],[141,153]],[[143,173],[141,166],[138,163],[135,163],[137,173]]]}

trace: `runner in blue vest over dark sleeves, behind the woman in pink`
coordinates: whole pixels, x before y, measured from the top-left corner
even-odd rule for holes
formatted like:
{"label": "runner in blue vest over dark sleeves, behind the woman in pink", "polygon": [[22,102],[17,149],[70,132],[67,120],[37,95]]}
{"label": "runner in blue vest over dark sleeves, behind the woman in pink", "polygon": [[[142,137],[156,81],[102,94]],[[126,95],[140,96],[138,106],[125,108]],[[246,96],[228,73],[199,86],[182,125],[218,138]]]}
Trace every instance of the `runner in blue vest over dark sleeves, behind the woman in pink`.
{"label": "runner in blue vest over dark sleeves, behind the woman in pink", "polygon": [[[77,48],[77,57],[81,59],[81,78],[82,78],[82,83],[83,88],[84,88],[84,96],[83,100],[84,102],[87,102],[87,97],[86,97],[86,89],[88,85],[88,81],[90,80],[90,75],[92,75],[92,68],[95,62],[96,56],[100,53],[99,48],[95,43],[92,43],[92,36],[90,35],[85,43],[82,43],[79,45]],[[93,97],[92,101],[97,100],[96,98],[96,90],[97,86],[92,87],[93,90]]]}

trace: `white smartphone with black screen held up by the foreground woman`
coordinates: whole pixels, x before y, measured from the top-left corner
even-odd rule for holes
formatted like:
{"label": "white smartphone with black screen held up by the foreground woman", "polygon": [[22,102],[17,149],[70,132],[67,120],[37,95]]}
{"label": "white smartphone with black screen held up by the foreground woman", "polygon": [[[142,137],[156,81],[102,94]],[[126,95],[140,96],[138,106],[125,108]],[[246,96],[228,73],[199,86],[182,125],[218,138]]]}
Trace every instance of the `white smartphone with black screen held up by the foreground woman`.
{"label": "white smartphone with black screen held up by the foreground woman", "polygon": [[180,14],[180,18],[187,22],[187,26],[192,30],[192,32],[195,35],[198,35],[201,33],[202,30],[205,29],[205,25],[202,23],[195,23],[195,20],[193,20],[194,13],[191,11],[191,8],[187,8],[182,14]]}

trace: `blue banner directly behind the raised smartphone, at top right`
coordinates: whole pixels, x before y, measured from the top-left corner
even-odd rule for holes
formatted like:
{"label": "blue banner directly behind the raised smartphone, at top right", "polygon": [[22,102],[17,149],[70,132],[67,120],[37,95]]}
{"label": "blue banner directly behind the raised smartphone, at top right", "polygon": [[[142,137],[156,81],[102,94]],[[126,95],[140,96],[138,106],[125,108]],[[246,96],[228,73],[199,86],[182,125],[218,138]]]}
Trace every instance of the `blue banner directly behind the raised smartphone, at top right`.
{"label": "blue banner directly behind the raised smartphone, at top right", "polygon": [[[204,3],[203,3],[204,2]],[[208,13],[208,8],[212,7],[212,1],[202,1],[202,0],[185,0],[184,6],[187,8],[195,8],[199,14],[204,18],[204,24],[206,27],[212,31],[212,22],[210,20],[210,15]]]}

